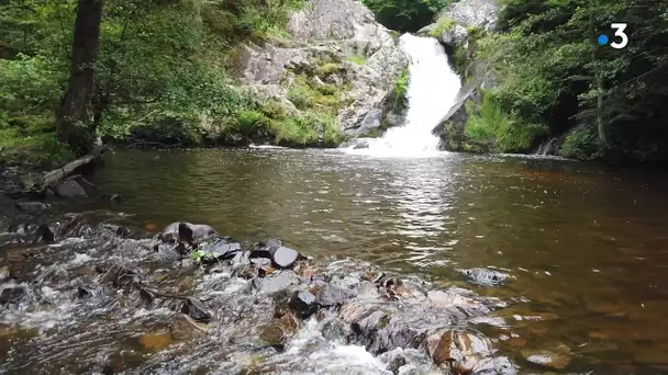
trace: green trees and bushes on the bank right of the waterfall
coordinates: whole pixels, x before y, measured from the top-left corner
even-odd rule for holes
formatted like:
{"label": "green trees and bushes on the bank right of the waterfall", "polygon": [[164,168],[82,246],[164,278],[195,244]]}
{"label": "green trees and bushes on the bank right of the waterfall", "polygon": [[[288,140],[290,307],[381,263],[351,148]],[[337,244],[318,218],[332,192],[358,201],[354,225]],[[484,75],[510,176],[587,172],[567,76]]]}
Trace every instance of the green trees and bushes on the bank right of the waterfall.
{"label": "green trees and bushes on the bank right of the waterfall", "polygon": [[[553,135],[584,125],[566,139],[570,157],[668,161],[665,12],[639,0],[503,5],[504,32],[482,37],[476,58],[494,67],[504,113],[516,124],[547,124]],[[621,20],[628,45],[598,45],[595,37],[612,37],[610,23]]]}

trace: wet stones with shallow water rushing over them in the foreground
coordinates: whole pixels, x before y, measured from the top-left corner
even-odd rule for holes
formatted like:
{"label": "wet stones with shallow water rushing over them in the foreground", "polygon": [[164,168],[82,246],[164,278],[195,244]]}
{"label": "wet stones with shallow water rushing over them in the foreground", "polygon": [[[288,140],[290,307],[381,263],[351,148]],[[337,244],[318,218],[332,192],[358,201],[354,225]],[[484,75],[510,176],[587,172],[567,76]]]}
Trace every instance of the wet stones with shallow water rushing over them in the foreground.
{"label": "wet stones with shallow water rushing over them in the foreground", "polygon": [[302,373],[324,356],[329,374],[515,373],[467,328],[500,299],[205,225],[152,236],[124,215],[41,215],[2,223],[4,371]]}

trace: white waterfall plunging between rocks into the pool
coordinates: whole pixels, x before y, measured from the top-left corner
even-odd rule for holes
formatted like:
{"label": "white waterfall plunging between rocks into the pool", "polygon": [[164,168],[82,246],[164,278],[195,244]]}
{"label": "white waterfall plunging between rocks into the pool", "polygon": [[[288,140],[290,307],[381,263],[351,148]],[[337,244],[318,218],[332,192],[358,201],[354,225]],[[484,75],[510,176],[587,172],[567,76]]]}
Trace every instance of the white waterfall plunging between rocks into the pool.
{"label": "white waterfall plunging between rocks into the pool", "polygon": [[432,130],[455,104],[461,82],[435,38],[404,34],[400,47],[409,58],[410,73],[405,125],[388,129],[380,139],[368,139],[368,149],[357,149],[357,154],[416,157],[438,152],[439,139]]}

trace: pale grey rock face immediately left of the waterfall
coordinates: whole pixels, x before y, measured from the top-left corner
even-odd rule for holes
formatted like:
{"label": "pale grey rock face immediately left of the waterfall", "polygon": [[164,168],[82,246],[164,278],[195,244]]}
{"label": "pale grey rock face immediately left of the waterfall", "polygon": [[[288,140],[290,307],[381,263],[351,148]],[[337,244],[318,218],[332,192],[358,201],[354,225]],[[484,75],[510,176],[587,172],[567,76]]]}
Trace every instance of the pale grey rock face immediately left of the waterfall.
{"label": "pale grey rock face immediately left of the waterfall", "polygon": [[[393,83],[408,60],[399,41],[354,0],[311,0],[288,24],[291,41],[246,45],[242,76],[252,90],[296,107],[289,90],[299,79],[336,87],[336,113],[347,134],[365,134],[383,122],[394,102]],[[298,103],[294,103],[298,104]]]}

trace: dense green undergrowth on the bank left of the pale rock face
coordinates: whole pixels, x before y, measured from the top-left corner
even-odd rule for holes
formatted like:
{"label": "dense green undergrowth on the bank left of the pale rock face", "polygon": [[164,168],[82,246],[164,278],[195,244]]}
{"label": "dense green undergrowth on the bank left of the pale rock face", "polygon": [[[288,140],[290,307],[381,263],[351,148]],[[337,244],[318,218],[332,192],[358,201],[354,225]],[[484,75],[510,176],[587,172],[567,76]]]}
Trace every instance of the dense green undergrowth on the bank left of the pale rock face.
{"label": "dense green undergrowth on the bank left of the pale rock face", "polygon": [[[290,13],[303,5],[105,1],[89,109],[98,136],[152,146],[336,145],[343,136],[333,112],[315,115],[316,106],[336,100],[335,90],[301,87],[313,111],[293,114],[285,103],[235,86],[240,46],[286,39]],[[67,88],[76,10],[75,0],[0,7],[1,159],[59,163],[74,157],[57,140],[55,113]]]}

